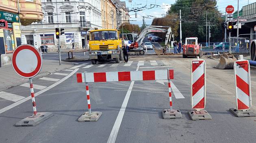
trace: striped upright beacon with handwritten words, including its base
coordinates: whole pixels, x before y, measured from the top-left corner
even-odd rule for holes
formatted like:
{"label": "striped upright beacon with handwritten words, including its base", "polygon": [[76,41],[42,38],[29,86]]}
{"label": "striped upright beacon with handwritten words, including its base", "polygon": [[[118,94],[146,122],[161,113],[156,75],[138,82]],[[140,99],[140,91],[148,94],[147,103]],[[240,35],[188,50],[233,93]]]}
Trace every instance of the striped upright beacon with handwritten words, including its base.
{"label": "striped upright beacon with handwritten words, including its base", "polygon": [[250,110],[252,107],[250,64],[248,60],[243,60],[243,55],[239,55],[239,58],[240,60],[234,62],[237,109],[230,108],[230,111],[236,117],[256,116]]}

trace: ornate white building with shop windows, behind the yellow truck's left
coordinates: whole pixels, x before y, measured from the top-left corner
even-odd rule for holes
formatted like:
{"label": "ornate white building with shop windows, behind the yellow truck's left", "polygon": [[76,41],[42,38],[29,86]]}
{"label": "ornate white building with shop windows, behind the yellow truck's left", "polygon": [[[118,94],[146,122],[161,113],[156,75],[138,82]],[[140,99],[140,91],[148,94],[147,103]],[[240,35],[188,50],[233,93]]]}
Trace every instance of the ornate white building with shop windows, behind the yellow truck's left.
{"label": "ornate white building with shop windows, behind the yellow truck's left", "polygon": [[60,36],[61,48],[86,47],[86,33],[90,29],[102,29],[100,0],[41,0],[43,20],[22,26],[22,44],[39,48],[43,44],[56,51],[58,39],[55,28],[64,28]]}

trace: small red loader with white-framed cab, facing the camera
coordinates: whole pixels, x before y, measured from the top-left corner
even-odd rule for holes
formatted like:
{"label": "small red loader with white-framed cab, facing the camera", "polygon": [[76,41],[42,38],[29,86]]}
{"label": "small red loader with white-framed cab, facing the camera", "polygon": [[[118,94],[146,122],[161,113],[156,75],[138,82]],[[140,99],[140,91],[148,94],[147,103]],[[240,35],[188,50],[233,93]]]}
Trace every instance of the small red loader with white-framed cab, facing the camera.
{"label": "small red loader with white-framed cab, facing the camera", "polygon": [[186,38],[183,45],[182,57],[202,57],[202,51],[200,45],[197,43],[197,37]]}

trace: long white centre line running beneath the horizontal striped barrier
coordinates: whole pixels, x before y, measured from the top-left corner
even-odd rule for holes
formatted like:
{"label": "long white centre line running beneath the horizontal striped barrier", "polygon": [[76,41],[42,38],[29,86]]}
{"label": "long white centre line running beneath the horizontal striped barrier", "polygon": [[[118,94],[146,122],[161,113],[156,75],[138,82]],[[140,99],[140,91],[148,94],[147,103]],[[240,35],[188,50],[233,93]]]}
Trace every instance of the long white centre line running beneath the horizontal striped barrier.
{"label": "long white centre line running beneath the horizontal striped barrier", "polygon": [[[139,70],[139,65],[138,65],[136,71],[138,71],[138,70]],[[123,104],[121,106],[121,109],[119,110],[119,113],[117,115],[117,119],[115,120],[115,124],[114,124],[114,126],[111,130],[111,133],[110,133],[109,137],[108,137],[108,142],[107,143],[115,143],[115,140],[117,139],[118,130],[119,130],[121,122],[123,120],[124,112],[125,112],[127,103],[129,101],[133,85],[134,85],[134,81],[131,82],[130,87],[129,87],[127,93],[126,93],[126,96],[124,97]]]}

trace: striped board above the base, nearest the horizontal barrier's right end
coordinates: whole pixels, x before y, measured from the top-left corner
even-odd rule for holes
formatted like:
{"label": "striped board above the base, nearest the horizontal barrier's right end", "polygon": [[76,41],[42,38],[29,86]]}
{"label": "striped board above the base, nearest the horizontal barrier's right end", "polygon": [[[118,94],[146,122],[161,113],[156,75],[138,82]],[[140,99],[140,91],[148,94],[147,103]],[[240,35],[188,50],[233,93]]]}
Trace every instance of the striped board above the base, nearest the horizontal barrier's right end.
{"label": "striped board above the base, nearest the horizontal barrier's right end", "polygon": [[192,60],[191,98],[192,109],[204,109],[205,106],[205,61]]}

